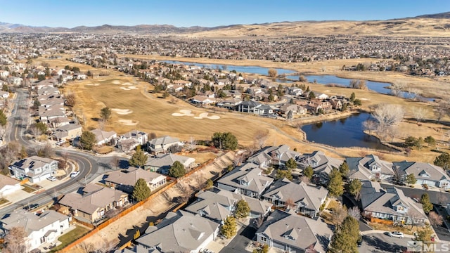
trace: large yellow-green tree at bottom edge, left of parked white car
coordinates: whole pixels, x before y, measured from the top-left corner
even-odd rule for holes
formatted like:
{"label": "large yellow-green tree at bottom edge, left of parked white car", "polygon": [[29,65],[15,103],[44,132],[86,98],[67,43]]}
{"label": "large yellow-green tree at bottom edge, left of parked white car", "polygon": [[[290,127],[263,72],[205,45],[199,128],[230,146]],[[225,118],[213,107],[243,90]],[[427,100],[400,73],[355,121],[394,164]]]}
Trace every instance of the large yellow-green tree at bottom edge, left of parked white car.
{"label": "large yellow-green tree at bottom edge, left of parked white car", "polygon": [[331,238],[328,253],[358,252],[356,242],[359,240],[359,223],[352,216],[347,216],[338,226]]}

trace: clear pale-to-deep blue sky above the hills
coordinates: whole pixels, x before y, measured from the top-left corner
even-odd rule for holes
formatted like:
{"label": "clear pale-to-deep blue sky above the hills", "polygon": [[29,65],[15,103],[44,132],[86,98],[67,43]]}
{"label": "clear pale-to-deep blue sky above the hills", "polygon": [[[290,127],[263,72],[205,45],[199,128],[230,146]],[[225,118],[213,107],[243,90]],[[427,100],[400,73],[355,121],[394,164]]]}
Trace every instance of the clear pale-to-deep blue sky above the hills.
{"label": "clear pale-to-deep blue sky above the hills", "polygon": [[387,20],[450,11],[449,0],[0,0],[0,22],[79,25],[254,24],[302,20]]}

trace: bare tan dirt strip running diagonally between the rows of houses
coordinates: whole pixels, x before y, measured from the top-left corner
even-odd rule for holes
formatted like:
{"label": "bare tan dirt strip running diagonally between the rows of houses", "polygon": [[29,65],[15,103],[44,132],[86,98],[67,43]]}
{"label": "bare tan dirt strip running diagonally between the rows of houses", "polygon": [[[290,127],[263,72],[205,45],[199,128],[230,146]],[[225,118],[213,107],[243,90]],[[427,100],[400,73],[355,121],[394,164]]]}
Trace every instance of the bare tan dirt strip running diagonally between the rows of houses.
{"label": "bare tan dirt strip running diagonally between the rows of houses", "polygon": [[[91,238],[84,241],[85,244],[92,243],[98,245],[115,245],[119,242],[119,235],[126,235],[127,230],[133,229],[134,226],[141,226],[147,222],[148,216],[158,216],[165,210],[172,207],[172,203],[168,200],[172,200],[174,197],[184,195],[186,191],[192,192],[191,188],[198,188],[198,182],[205,182],[207,179],[212,178],[215,174],[225,169],[229,164],[233,162],[235,153],[229,152],[217,157],[214,163],[206,166],[201,171],[191,175],[189,179],[186,179],[179,183],[179,186],[175,186],[166,191],[167,194],[159,195],[153,200],[146,202],[145,205],[137,208],[133,212],[130,212],[121,219],[111,223],[109,226],[91,236]],[[82,253],[80,249],[74,248],[70,252]]]}

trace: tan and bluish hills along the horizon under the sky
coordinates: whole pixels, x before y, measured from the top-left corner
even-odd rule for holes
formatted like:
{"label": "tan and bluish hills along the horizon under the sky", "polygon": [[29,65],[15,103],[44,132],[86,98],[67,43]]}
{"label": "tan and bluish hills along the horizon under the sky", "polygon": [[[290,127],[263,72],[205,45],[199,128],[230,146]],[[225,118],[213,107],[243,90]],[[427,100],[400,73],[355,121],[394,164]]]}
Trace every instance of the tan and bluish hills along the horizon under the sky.
{"label": "tan and bluish hills along the horizon under the sky", "polygon": [[368,21],[297,21],[219,27],[173,25],[101,25],[95,27],[33,27],[0,22],[0,32],[82,32],[92,34],[150,34],[189,38],[295,38],[301,36],[428,36],[450,37],[450,12],[413,18]]}

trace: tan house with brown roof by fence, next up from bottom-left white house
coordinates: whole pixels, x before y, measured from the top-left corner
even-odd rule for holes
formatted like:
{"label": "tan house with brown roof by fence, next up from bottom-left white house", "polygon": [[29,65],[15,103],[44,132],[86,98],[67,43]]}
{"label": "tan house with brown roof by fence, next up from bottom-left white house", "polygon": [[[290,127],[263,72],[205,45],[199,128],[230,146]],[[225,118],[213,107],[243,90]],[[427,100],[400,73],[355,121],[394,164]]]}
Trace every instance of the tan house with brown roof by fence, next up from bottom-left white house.
{"label": "tan house with brown roof by fence, next up from bottom-left white house", "polygon": [[105,218],[108,211],[128,204],[128,194],[122,190],[88,184],[83,194],[68,193],[58,201],[59,212],[72,214],[75,219],[96,223]]}

